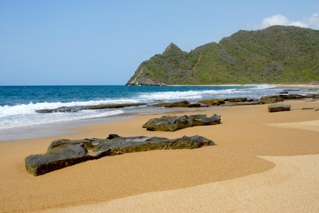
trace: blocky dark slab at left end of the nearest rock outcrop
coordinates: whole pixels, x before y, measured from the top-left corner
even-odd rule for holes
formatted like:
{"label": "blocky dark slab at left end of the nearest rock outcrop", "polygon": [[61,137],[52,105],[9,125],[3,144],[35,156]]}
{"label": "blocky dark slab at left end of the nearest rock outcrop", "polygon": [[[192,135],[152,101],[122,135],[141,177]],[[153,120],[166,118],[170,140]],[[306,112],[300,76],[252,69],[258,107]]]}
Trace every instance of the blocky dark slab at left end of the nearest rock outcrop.
{"label": "blocky dark slab at left end of the nearest rock outcrop", "polygon": [[34,176],[86,162],[91,159],[84,145],[68,146],[49,154],[33,154],[25,159],[26,169]]}

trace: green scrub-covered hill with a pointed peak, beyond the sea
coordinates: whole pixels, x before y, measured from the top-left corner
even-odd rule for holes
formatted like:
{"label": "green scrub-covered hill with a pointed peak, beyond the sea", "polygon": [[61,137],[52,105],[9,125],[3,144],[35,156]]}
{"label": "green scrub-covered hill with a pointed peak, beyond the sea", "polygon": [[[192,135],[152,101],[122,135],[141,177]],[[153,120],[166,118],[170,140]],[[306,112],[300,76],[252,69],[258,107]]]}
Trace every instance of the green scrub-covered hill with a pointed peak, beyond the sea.
{"label": "green scrub-covered hill with a pointed peak, beyond the sea", "polygon": [[318,83],[319,31],[275,26],[239,31],[190,52],[171,43],[127,85]]}

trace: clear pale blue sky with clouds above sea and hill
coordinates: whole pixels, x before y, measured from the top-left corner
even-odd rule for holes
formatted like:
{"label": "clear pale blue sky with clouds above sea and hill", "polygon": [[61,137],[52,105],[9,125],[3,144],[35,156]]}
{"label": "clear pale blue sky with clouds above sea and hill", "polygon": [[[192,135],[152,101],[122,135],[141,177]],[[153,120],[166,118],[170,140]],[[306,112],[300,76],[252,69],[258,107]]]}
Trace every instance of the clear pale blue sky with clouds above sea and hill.
{"label": "clear pale blue sky with clouds above sea and hill", "polygon": [[0,0],[0,85],[123,85],[175,43],[319,29],[319,0]]}

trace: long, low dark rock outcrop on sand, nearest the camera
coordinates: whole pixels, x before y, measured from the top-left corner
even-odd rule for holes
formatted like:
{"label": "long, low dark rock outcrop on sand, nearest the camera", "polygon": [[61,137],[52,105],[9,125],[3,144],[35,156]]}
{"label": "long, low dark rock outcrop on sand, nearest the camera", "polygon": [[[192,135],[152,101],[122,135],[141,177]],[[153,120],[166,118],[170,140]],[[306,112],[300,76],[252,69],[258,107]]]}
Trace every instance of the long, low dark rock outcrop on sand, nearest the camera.
{"label": "long, low dark rock outcrop on sand, nearest the camera", "polygon": [[156,149],[193,149],[213,145],[215,145],[213,141],[201,136],[169,139],[144,136],[124,138],[111,134],[108,138],[60,139],[52,141],[46,154],[32,154],[26,157],[25,165],[30,174],[39,176],[104,156]]}

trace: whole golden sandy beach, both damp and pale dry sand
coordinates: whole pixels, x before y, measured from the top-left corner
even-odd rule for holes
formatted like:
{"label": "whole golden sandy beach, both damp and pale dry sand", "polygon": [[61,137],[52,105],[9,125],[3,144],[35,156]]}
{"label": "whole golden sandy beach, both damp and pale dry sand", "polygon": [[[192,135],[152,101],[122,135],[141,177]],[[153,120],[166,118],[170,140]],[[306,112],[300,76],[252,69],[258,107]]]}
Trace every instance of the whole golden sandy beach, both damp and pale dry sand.
{"label": "whole golden sandy beach, both damp and pale dry sand", "polygon": [[[162,114],[84,126],[76,133],[0,142],[0,212],[318,212],[318,101],[181,109],[219,114],[222,124],[175,132],[141,126]],[[201,135],[217,146],[105,157],[39,177],[24,159],[57,138]]]}

